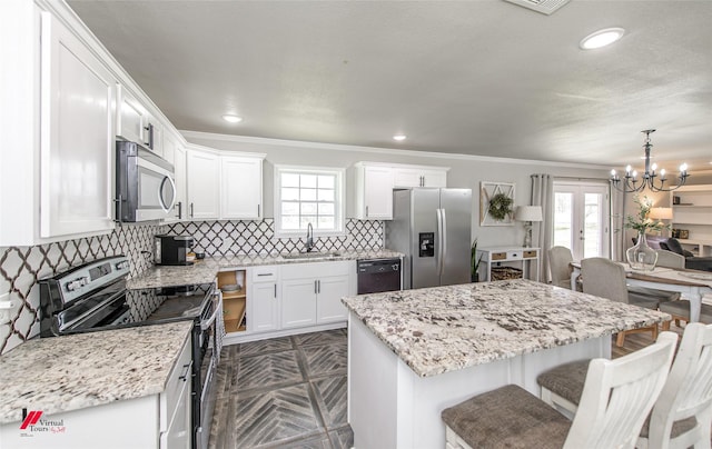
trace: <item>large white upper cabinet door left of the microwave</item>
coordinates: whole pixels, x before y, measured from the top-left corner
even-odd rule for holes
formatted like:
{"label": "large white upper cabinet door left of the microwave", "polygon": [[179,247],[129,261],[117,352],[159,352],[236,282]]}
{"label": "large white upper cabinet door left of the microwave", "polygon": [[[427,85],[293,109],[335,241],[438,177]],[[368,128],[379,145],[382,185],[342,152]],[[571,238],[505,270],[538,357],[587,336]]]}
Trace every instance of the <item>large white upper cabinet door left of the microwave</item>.
{"label": "large white upper cabinet door left of the microwave", "polygon": [[111,230],[116,79],[48,12],[41,61],[40,237]]}

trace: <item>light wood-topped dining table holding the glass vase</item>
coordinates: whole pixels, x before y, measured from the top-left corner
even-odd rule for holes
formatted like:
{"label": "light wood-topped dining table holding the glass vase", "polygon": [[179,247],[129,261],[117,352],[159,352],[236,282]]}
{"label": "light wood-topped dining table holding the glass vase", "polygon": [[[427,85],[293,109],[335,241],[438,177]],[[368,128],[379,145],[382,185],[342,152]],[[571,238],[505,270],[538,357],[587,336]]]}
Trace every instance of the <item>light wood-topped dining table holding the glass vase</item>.
{"label": "light wood-topped dining table holding the glass vase", "polygon": [[[625,268],[629,286],[645,287],[656,290],[676,291],[690,300],[690,321],[700,321],[702,298],[712,293],[712,272],[668,267],[654,267],[652,270],[633,270],[627,263],[619,262]],[[581,277],[581,262],[570,263],[571,289],[576,290]],[[584,280],[585,281],[585,280]]]}

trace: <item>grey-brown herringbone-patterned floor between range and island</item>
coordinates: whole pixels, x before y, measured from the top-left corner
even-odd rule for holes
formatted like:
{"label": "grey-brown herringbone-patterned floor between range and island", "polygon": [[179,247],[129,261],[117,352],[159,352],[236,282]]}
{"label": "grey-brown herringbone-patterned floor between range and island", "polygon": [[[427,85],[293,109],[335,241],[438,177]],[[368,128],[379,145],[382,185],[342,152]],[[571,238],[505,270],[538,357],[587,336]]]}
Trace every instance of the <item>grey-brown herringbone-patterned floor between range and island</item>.
{"label": "grey-brown herringbone-patterned floor between range and island", "polygon": [[209,448],[350,448],[346,351],[346,329],[222,348]]}

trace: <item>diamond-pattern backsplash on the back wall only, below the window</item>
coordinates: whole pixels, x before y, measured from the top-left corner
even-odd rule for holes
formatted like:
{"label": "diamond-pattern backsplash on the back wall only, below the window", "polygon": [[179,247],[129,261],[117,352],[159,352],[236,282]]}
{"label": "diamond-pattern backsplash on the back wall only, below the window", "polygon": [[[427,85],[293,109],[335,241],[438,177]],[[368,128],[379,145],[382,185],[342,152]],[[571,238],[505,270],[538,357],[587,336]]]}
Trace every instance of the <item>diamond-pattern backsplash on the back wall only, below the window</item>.
{"label": "diamond-pattern backsplash on the back wall only, below the window", "polygon": [[[299,252],[306,245],[300,238],[275,237],[275,220],[190,221],[168,226],[168,233],[192,236],[195,251],[206,256],[264,255]],[[377,250],[384,248],[384,222],[346,220],[346,236],[314,239],[317,251]]]}

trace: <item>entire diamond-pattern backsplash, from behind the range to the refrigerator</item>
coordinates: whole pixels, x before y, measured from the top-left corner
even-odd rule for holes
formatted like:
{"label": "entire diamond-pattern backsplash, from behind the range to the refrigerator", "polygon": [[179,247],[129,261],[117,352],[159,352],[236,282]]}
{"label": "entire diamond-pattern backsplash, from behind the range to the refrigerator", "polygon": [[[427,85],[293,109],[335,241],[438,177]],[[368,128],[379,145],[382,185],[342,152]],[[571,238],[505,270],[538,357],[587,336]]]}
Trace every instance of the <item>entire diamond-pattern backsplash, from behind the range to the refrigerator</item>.
{"label": "entire diamond-pattern backsplash, from behind the range to the refrigerator", "polygon": [[[319,251],[372,250],[384,248],[383,221],[346,221],[347,235],[315,239]],[[39,333],[39,288],[37,281],[107,256],[126,255],[129,277],[152,266],[154,236],[194,236],[197,251],[209,256],[298,252],[306,236],[275,237],[274,220],[199,221],[174,225],[122,225],[106,236],[87,237],[36,247],[0,248],[0,293],[10,293],[20,308],[10,313],[10,323],[0,326],[0,353]]]}

